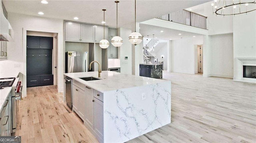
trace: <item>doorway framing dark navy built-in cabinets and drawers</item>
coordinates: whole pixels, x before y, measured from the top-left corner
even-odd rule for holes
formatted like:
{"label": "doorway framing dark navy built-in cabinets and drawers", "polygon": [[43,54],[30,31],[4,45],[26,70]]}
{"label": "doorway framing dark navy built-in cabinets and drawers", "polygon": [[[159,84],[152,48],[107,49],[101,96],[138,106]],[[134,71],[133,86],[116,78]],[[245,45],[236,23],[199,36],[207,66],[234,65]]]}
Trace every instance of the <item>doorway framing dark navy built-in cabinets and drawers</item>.
{"label": "doorway framing dark navy built-in cabinets and drawers", "polygon": [[58,85],[57,63],[58,33],[26,31],[27,87]]}

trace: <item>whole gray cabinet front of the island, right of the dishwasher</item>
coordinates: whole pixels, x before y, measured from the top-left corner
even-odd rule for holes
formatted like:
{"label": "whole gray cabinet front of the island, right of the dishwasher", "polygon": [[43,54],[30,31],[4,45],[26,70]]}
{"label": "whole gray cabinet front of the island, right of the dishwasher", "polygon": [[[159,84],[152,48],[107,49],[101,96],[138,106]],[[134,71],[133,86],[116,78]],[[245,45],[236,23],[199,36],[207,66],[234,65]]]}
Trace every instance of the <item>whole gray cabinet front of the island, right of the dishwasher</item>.
{"label": "whole gray cabinet front of the island, right of the dishwasher", "polygon": [[103,142],[103,93],[73,80],[72,109],[98,141]]}

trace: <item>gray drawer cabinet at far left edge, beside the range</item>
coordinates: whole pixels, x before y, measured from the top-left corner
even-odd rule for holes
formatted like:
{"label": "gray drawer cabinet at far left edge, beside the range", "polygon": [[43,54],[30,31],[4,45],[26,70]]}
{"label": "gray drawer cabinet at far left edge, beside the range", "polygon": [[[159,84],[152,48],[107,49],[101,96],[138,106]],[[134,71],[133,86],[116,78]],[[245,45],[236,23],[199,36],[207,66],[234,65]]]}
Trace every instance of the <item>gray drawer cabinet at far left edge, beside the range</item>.
{"label": "gray drawer cabinet at far left edge, beside the range", "polygon": [[8,95],[7,100],[5,100],[3,108],[0,112],[0,136],[10,136],[10,102],[11,102],[11,92]]}

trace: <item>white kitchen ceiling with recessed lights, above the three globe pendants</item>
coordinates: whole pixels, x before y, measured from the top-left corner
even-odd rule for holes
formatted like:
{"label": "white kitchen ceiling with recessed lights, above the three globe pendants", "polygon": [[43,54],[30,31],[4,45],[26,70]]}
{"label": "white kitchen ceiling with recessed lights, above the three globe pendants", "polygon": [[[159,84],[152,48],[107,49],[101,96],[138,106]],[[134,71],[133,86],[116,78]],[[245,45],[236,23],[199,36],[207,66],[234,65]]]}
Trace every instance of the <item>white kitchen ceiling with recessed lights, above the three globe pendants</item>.
{"label": "white kitchen ceiling with recessed lights, above the three globe pendants", "polygon": [[[118,27],[131,28],[134,25],[134,0],[119,0]],[[137,0],[136,21],[143,22],[209,2],[210,0]],[[78,17],[78,22],[102,25],[103,11],[105,12],[106,25],[116,27],[116,3],[114,0],[48,0],[42,4],[40,0],[3,0],[7,12],[14,12],[32,16],[72,20]]]}

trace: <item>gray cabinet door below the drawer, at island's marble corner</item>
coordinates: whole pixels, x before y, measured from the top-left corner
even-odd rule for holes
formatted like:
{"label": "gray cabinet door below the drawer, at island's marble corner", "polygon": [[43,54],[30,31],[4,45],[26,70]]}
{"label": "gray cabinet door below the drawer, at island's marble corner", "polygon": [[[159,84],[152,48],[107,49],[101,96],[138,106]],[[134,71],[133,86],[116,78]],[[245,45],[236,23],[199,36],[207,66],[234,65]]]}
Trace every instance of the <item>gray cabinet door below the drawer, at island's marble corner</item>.
{"label": "gray cabinet door below the drawer, at island's marble corner", "polygon": [[94,97],[94,131],[103,140],[103,102]]}

